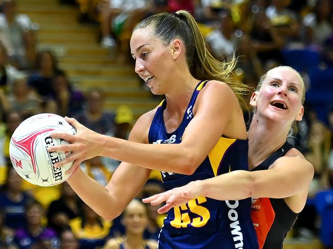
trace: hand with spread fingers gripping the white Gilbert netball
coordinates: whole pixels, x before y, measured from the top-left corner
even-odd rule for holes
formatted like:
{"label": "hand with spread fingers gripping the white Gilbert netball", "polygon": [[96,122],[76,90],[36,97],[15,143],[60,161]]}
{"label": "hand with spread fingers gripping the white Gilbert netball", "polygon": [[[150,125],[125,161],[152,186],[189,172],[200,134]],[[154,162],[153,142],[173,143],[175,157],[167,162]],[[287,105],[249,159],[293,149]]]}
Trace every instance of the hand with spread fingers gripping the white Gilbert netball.
{"label": "hand with spread fingers gripping the white Gilbert netball", "polygon": [[56,163],[54,167],[60,167],[70,162],[74,162],[72,167],[66,172],[66,174],[72,174],[82,162],[99,154],[101,150],[101,140],[99,136],[101,136],[101,134],[81,125],[75,119],[65,117],[65,120],[76,129],[76,134],[72,135],[67,132],[52,131],[50,133],[52,138],[64,139],[70,144],[50,146],[48,150],[71,151],[72,154],[70,156],[63,161]]}

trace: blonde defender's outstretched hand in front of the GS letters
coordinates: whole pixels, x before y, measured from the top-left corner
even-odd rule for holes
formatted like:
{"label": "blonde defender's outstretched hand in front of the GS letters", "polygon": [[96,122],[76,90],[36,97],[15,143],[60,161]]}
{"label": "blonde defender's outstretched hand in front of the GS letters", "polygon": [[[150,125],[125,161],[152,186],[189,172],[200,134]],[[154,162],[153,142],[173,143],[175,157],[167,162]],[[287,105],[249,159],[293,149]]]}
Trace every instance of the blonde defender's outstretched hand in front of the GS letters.
{"label": "blonde defender's outstretched hand in front of the GS letters", "polygon": [[157,210],[159,214],[168,212],[173,207],[177,207],[189,202],[191,199],[200,196],[201,185],[200,181],[196,180],[185,186],[174,188],[169,191],[155,194],[151,197],[142,199],[144,203],[151,203],[151,205],[156,206],[159,203],[165,201],[165,205]]}

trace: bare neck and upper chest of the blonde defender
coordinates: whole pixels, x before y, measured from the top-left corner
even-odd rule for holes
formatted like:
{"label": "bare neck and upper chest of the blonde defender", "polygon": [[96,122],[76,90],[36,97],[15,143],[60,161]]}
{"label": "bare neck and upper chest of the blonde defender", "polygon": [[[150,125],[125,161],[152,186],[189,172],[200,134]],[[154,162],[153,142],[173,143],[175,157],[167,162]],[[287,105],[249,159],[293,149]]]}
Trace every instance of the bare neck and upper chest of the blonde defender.
{"label": "bare neck and upper chest of the blonde defender", "polygon": [[258,120],[254,115],[247,133],[249,169],[262,163],[280,148],[285,143],[287,134],[288,130],[281,127],[279,122]]}

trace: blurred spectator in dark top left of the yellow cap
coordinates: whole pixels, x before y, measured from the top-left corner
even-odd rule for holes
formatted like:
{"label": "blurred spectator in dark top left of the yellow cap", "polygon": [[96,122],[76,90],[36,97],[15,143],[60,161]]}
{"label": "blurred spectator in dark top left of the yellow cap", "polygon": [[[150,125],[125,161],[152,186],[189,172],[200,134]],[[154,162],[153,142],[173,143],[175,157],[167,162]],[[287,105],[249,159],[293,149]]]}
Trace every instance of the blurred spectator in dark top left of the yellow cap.
{"label": "blurred spectator in dark top left of the yellow cap", "polygon": [[101,134],[114,135],[114,114],[103,111],[104,97],[100,90],[92,89],[88,93],[86,108],[76,116],[81,124]]}

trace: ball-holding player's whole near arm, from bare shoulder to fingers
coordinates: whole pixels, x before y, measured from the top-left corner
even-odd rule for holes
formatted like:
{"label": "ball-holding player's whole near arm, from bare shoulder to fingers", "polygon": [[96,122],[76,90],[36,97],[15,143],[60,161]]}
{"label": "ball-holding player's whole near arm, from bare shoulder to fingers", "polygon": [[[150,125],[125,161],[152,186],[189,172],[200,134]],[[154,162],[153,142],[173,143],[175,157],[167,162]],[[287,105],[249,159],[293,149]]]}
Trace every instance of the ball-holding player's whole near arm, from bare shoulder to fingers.
{"label": "ball-holding player's whole near arm, from bare shoulder to fingers", "polygon": [[[192,174],[221,138],[236,105],[239,108],[234,93],[224,83],[211,81],[201,91],[196,103],[195,116],[186,127],[180,144],[148,145],[90,131],[81,133],[79,137],[61,133],[58,137],[72,144],[54,146],[52,150],[73,151],[73,154],[59,165],[74,160],[82,162],[87,159],[87,155],[102,155],[145,168]],[[69,121],[75,126],[79,125],[73,120]],[[89,143],[85,140],[89,140]]]}

